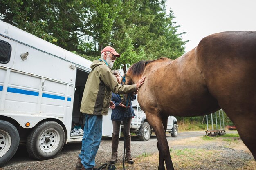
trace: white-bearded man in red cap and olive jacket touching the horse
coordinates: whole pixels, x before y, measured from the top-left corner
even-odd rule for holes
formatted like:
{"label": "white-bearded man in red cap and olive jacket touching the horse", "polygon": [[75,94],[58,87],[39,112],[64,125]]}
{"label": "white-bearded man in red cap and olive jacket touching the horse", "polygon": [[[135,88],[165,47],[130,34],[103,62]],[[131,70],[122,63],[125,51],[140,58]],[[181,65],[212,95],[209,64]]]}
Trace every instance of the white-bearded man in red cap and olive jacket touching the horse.
{"label": "white-bearded man in red cap and olive jacket touching the horse", "polygon": [[144,83],[142,77],[137,84],[121,85],[112,73],[112,66],[120,55],[111,46],[106,46],[101,51],[101,58],[94,60],[81,102],[82,113],[85,113],[84,134],[82,148],[75,170],[93,170],[95,156],[99,149],[102,136],[102,115],[108,114],[108,108],[115,108],[111,101],[111,91],[124,94],[137,92]]}

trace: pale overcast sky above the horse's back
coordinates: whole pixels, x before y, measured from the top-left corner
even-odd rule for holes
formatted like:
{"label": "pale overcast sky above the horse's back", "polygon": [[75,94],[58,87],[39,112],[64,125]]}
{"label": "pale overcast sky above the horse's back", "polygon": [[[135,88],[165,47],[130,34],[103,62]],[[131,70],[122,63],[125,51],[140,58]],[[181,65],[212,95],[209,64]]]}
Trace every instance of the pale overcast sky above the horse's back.
{"label": "pale overcast sky above the horse's back", "polygon": [[223,31],[256,31],[256,0],[167,0],[188,52],[207,35]]}

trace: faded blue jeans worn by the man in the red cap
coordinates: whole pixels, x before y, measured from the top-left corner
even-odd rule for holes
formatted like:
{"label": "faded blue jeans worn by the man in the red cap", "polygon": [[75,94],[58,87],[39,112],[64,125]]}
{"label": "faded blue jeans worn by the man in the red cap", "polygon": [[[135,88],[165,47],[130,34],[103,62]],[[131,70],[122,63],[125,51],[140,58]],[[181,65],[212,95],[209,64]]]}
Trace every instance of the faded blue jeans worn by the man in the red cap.
{"label": "faded blue jeans worn by the man in the red cap", "polygon": [[102,137],[102,115],[85,114],[81,152],[78,155],[85,169],[95,166],[95,156]]}

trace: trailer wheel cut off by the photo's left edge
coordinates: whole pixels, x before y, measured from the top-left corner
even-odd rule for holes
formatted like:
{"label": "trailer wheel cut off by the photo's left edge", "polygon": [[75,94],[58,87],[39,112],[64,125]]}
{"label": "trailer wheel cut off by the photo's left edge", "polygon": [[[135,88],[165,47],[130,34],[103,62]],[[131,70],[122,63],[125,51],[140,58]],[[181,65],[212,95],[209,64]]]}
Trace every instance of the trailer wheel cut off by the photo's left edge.
{"label": "trailer wheel cut off by the photo's left edge", "polygon": [[20,135],[8,121],[0,120],[0,167],[9,161],[18,149]]}

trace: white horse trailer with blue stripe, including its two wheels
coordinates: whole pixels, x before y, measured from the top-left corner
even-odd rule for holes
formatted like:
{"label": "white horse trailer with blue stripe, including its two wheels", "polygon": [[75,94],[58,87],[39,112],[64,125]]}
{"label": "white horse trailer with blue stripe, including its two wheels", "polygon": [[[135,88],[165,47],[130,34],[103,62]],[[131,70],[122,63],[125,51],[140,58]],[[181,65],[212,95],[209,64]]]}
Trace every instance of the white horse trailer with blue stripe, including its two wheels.
{"label": "white horse trailer with blue stripe, including its two wheels", "polygon": [[[71,131],[83,129],[79,95],[91,63],[0,21],[0,166],[19,143],[43,160],[55,157],[64,143],[81,141],[83,134]],[[112,127],[105,119],[103,129]]]}

